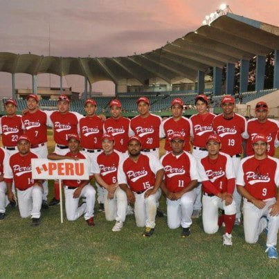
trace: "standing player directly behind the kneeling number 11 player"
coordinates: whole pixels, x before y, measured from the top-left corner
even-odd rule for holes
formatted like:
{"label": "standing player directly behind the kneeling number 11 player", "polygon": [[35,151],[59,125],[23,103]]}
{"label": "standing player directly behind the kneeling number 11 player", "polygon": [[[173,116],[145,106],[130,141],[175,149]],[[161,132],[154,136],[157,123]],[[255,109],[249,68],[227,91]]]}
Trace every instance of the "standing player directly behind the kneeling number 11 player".
{"label": "standing player directly behind the kneeling number 11 player", "polygon": [[183,149],[190,152],[190,132],[192,130],[192,122],[182,116],[184,102],[180,98],[174,98],[170,105],[172,117],[163,120],[160,125],[161,137],[165,138],[165,150],[172,151],[170,138],[175,132],[180,132],[185,138]]}

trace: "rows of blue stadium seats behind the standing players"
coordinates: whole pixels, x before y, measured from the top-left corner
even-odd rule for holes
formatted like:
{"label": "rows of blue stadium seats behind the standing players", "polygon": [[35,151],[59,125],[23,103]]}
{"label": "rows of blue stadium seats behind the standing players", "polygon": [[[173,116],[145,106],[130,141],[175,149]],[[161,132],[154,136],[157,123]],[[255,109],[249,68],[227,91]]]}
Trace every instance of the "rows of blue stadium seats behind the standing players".
{"label": "rows of blue stadium seats behind the standing players", "polygon": [[[249,91],[242,93],[240,95],[235,95],[235,101],[237,103],[245,104],[256,98],[266,95],[276,91],[277,89],[264,89],[262,91]],[[219,107],[220,101],[223,95],[213,96],[212,92],[205,92],[206,96],[210,99],[211,107]],[[127,93],[118,95],[118,100],[122,103],[123,111],[125,112],[136,112],[136,100],[141,96],[147,96],[150,99],[151,111],[165,111],[170,109],[170,103],[173,98],[181,98],[185,104],[195,109],[195,92],[148,92],[148,93],[133,93],[130,95]],[[106,113],[109,111],[109,102],[114,97],[95,97],[94,100],[97,102],[97,113]],[[3,98],[3,104],[6,102],[7,98]],[[56,100],[40,100],[39,102],[41,109],[56,109],[57,101]],[[26,100],[17,100],[17,107],[19,111],[26,109]],[[84,100],[75,100],[71,102],[71,111],[77,111],[80,114],[84,114]]]}

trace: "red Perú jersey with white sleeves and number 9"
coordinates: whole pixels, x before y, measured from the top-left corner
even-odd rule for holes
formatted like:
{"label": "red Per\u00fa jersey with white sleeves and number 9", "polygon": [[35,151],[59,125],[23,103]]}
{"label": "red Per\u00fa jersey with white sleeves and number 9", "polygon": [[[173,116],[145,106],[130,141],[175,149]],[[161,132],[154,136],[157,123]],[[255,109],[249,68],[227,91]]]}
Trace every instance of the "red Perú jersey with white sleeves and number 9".
{"label": "red Per\u00fa jersey with white sleeves and number 9", "polygon": [[263,160],[255,159],[255,156],[242,159],[236,183],[244,186],[255,199],[277,197],[279,160],[271,156]]}

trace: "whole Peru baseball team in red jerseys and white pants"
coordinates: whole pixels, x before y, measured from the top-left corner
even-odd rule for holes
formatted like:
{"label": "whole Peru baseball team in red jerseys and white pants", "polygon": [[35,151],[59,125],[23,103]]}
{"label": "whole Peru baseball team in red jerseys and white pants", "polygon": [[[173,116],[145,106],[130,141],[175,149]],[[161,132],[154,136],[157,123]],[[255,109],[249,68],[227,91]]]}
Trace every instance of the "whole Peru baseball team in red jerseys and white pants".
{"label": "whole Peru baseball team in red jerseys and white pants", "polygon": [[[58,181],[48,203],[48,181],[32,178],[31,159],[85,159],[89,180],[62,181],[69,221],[84,215],[94,226],[97,192],[99,210],[116,221],[112,231],[121,231],[126,215],[134,214],[136,226],[149,237],[163,192],[168,227],[181,227],[181,237],[190,235],[192,219],[201,215],[204,232],[224,226],[223,244],[231,246],[233,226],[243,224],[246,242],[257,242],[264,231],[268,257],[278,258],[279,123],[267,117],[266,102],[255,105],[250,120],[234,112],[235,99],[229,95],[222,97],[219,115],[208,111],[206,95],[197,95],[197,114],[190,118],[183,116],[183,100],[174,98],[172,117],[165,120],[150,113],[146,97],[136,101],[138,116],[131,120],[122,116],[117,99],[109,103],[107,119],[96,115],[93,99],[84,102],[86,116],[69,111],[65,95],[57,99],[56,111],[40,110],[35,94],[26,102],[19,116],[17,102],[6,100],[6,116],[0,118],[0,220],[8,204],[18,205],[20,216],[31,217],[31,225],[37,226],[42,208],[60,204]],[[47,127],[53,128],[55,141],[51,154]],[[159,158],[161,138],[165,154]]]}

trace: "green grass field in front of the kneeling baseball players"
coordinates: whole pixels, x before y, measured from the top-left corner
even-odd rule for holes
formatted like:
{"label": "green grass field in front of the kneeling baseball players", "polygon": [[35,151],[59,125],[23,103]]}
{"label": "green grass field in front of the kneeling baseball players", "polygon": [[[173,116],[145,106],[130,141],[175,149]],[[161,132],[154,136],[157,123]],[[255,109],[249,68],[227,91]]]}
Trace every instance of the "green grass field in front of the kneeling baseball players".
{"label": "green grass field in front of the kneeling baseball players", "polygon": [[[165,210],[164,197],[160,207]],[[201,217],[194,219],[186,239],[180,229],[168,228],[166,217],[156,218],[149,238],[141,236],[143,228],[136,227],[133,215],[118,233],[104,213],[97,213],[95,222],[92,228],[82,217],[68,222],[64,215],[60,224],[60,206],[54,206],[42,210],[42,224],[34,228],[30,219],[19,217],[18,208],[8,206],[0,223],[1,278],[278,278],[278,260],[264,253],[266,236],[246,244],[243,226],[234,229],[228,247],[222,246],[222,229],[204,233]]]}

